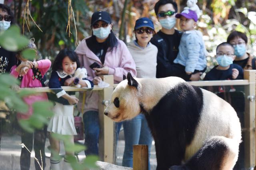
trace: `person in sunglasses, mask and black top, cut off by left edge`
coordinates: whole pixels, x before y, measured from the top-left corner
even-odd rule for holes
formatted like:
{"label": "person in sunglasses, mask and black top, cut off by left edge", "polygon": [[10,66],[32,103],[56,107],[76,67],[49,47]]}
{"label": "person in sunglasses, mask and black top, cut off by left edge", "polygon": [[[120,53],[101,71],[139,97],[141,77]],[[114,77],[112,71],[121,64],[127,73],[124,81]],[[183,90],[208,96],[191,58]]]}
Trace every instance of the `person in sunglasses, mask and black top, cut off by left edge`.
{"label": "person in sunglasses, mask and black top, cut off by left edge", "polygon": [[[0,32],[7,30],[12,24],[14,24],[14,15],[12,11],[8,6],[0,4]],[[0,76],[5,72],[10,72],[11,67],[14,66],[16,62],[15,53],[0,46]],[[5,108],[6,106],[0,101],[0,107]],[[0,118],[0,142],[2,136],[2,124],[4,122],[5,120]]]}

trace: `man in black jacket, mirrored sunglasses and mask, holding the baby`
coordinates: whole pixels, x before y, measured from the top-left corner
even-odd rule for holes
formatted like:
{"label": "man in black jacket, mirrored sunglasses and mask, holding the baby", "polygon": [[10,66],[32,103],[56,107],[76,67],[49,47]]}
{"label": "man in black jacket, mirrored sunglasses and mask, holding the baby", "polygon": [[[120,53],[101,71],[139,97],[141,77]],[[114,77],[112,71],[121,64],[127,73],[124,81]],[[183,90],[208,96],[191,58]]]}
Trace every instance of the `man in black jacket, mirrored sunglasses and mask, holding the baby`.
{"label": "man in black jacket, mirrored sunglasses and mask, holding the baby", "polygon": [[[175,30],[175,14],[178,7],[173,0],[159,0],[154,7],[156,16],[162,29],[151,39],[151,43],[158,48],[156,77],[169,77],[179,75],[182,68],[173,61],[179,52],[180,38],[182,32]],[[188,75],[188,79],[198,81],[202,73]]]}

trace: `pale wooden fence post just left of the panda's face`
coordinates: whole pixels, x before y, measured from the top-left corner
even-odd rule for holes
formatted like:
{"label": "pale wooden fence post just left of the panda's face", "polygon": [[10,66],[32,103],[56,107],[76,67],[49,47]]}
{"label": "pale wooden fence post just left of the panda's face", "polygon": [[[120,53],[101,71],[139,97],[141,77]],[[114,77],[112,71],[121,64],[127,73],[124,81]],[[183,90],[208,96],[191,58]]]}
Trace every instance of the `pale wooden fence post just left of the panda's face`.
{"label": "pale wooden fence post just left of the panda's face", "polygon": [[109,87],[98,91],[98,109],[99,109],[99,122],[100,122],[100,137],[99,137],[99,157],[101,161],[114,163],[114,122],[104,115],[106,106],[102,103],[111,99],[114,85],[113,75],[104,75],[103,81],[110,84]]}

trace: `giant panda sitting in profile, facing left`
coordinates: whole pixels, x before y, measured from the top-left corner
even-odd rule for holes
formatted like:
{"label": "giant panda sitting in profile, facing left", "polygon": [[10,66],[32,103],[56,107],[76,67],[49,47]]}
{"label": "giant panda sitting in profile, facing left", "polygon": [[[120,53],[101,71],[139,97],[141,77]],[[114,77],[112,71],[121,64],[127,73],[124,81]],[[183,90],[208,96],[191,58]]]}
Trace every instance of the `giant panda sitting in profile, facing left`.
{"label": "giant panda sitting in profile, facing left", "polygon": [[120,82],[104,114],[120,122],[144,113],[155,140],[156,170],[232,170],[241,141],[229,103],[179,77]]}

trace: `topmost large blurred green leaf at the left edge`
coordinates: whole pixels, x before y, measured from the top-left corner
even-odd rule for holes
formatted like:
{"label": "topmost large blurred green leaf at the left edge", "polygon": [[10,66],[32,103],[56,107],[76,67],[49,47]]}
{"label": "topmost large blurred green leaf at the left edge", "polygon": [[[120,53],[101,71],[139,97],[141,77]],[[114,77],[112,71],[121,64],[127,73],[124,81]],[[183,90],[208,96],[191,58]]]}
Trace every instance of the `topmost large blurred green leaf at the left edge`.
{"label": "topmost large blurred green leaf at the left edge", "polygon": [[0,33],[0,46],[8,51],[18,51],[28,45],[28,39],[20,35],[18,26],[11,26],[8,30]]}

